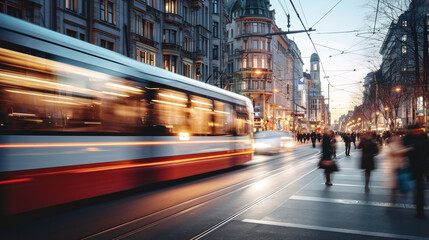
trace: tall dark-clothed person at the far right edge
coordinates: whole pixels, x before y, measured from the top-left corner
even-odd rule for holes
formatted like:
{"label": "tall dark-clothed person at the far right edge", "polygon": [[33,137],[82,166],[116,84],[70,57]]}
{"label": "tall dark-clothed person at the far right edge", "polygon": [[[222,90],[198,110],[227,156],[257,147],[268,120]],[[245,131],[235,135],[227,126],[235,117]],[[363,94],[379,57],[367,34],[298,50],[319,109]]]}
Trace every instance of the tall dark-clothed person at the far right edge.
{"label": "tall dark-clothed person at the far right edge", "polygon": [[416,204],[417,218],[425,218],[424,214],[424,187],[423,179],[425,172],[429,169],[428,163],[428,139],[423,133],[421,128],[417,125],[411,125],[408,127],[408,133],[404,137],[404,145],[411,148],[407,152],[408,159],[410,161],[410,170],[415,181],[415,195],[414,200]]}

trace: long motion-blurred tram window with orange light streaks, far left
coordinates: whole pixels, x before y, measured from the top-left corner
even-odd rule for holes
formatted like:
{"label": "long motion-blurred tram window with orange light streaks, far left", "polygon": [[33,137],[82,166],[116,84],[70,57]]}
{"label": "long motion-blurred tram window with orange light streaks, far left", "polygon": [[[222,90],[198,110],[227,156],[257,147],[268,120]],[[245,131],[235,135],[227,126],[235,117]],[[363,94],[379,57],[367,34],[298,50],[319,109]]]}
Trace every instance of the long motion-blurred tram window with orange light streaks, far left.
{"label": "long motion-blurred tram window with orange light streaks, far left", "polygon": [[145,102],[133,83],[0,48],[1,129],[134,133]]}

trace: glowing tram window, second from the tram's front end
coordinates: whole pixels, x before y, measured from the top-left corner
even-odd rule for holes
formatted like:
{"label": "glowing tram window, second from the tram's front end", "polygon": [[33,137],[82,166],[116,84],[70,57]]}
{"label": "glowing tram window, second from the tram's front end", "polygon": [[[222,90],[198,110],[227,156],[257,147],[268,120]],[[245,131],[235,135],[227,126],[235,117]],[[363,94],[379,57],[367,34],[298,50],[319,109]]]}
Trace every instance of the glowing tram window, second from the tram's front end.
{"label": "glowing tram window, second from the tram's front end", "polygon": [[233,129],[233,111],[232,106],[228,103],[215,101],[215,134],[231,134]]}

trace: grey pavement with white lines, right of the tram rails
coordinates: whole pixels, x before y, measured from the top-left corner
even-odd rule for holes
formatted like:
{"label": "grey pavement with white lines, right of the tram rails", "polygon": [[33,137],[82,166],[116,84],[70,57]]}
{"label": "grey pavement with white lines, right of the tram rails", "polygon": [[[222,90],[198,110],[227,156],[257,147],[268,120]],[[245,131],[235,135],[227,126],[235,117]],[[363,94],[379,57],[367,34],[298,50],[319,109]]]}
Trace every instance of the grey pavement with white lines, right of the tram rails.
{"label": "grey pavement with white lines, right of the tram rails", "polygon": [[240,229],[241,239],[429,239],[429,220],[415,217],[412,192],[398,195],[395,204],[390,201],[387,147],[377,156],[368,193],[359,169],[361,150],[352,146],[346,157],[344,143],[338,142],[337,153],[340,171],[333,174],[333,186],[325,186],[318,169],[291,196],[249,211],[225,231]]}

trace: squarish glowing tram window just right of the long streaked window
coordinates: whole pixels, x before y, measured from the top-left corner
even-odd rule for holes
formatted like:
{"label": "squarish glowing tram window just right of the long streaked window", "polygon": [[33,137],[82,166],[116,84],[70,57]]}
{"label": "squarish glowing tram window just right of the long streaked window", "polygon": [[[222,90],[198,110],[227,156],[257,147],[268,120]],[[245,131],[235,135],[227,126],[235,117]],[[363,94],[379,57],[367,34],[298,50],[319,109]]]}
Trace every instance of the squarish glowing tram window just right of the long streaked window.
{"label": "squarish glowing tram window just right of the long streaked window", "polygon": [[[179,135],[189,133],[187,118],[188,96],[179,91],[159,89],[151,100],[152,114],[156,134]],[[152,130],[155,130],[152,129]]]}

